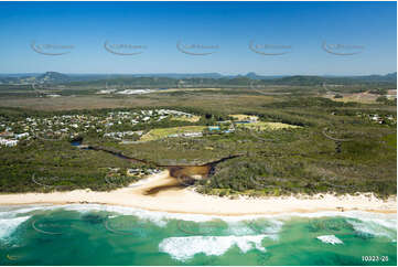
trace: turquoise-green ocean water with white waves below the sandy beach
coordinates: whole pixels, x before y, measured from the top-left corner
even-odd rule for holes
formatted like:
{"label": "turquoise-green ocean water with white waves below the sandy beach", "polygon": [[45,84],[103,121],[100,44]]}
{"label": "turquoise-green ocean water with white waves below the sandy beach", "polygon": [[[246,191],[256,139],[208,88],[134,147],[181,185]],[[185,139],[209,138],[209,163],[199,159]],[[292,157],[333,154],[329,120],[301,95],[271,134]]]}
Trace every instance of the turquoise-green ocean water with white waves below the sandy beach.
{"label": "turquoise-green ocean water with white waves below the sandy beach", "polygon": [[[0,207],[0,265],[397,265],[396,214]],[[363,257],[364,256],[364,257]]]}

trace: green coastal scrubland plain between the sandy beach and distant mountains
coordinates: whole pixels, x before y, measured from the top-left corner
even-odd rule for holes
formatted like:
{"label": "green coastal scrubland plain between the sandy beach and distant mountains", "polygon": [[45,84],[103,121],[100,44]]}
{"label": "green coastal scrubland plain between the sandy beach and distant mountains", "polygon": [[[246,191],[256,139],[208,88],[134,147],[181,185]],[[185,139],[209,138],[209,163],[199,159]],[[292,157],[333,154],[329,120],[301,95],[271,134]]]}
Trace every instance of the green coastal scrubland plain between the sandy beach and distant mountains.
{"label": "green coastal scrubland plain between the sandy beach and distant mountains", "polygon": [[[327,97],[316,85],[173,88],[135,96],[95,95],[92,87],[80,86],[83,93],[79,85],[72,84],[74,96],[64,95],[67,88],[63,88],[62,96],[55,98],[40,97],[24,88],[0,94],[2,122],[154,108],[189,113],[195,119],[170,118],[107,129],[142,131],[141,137],[127,142],[105,137],[97,129],[77,132],[82,145],[114,153],[73,147],[71,137],[32,137],[15,147],[0,147],[1,192],[112,190],[139,179],[126,175],[128,169],[209,164],[206,175],[189,184],[204,194],[396,194],[394,100],[364,103],[351,97],[341,102]],[[338,87],[336,94],[352,95],[373,87],[347,85]],[[230,115],[255,116],[258,120],[238,124],[239,118]],[[170,137],[184,129],[203,135]]]}

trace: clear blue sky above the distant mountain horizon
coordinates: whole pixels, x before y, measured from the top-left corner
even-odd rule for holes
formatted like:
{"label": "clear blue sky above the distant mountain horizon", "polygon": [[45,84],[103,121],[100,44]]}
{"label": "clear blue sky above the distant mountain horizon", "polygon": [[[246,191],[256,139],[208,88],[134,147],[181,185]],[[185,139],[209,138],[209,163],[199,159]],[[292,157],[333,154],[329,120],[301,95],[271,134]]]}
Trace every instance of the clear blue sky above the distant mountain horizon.
{"label": "clear blue sky above the distant mountain horizon", "polygon": [[[208,73],[362,75],[397,70],[396,2],[0,2],[0,73]],[[146,45],[116,55],[110,44]],[[73,45],[50,56],[31,43]],[[217,45],[190,55],[184,44]],[[265,56],[249,42],[290,45]],[[327,44],[361,45],[335,55]]]}

